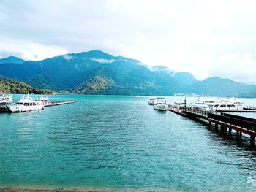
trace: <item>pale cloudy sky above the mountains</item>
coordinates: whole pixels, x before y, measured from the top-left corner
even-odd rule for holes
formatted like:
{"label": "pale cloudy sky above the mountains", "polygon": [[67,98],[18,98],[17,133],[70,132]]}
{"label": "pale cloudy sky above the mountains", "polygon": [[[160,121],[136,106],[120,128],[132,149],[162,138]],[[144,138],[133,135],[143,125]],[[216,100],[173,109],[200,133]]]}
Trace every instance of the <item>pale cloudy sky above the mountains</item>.
{"label": "pale cloudy sky above the mountains", "polygon": [[256,1],[1,0],[0,58],[102,50],[256,84]]}

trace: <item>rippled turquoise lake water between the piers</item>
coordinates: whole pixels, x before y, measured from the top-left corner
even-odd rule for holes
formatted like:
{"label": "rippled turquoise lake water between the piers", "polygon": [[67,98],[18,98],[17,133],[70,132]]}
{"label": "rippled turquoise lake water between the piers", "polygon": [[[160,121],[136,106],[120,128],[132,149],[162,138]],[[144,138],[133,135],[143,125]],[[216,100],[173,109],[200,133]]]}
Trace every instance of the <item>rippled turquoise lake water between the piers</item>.
{"label": "rippled turquoise lake water between the piers", "polygon": [[153,110],[148,97],[51,97],[77,103],[0,114],[0,188],[256,190],[246,137]]}

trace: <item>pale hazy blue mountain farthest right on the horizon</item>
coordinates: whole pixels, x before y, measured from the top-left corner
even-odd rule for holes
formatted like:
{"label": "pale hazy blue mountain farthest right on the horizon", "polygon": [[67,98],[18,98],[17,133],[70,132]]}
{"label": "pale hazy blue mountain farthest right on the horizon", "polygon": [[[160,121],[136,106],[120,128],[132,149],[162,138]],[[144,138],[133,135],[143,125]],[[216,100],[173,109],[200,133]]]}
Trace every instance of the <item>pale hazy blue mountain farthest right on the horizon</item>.
{"label": "pale hazy blue mountain farthest right on the horizon", "polygon": [[256,85],[246,85],[229,79],[210,77],[192,84],[190,91],[191,93],[208,94],[210,96],[227,96],[252,91],[254,88],[256,88]]}

